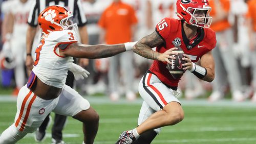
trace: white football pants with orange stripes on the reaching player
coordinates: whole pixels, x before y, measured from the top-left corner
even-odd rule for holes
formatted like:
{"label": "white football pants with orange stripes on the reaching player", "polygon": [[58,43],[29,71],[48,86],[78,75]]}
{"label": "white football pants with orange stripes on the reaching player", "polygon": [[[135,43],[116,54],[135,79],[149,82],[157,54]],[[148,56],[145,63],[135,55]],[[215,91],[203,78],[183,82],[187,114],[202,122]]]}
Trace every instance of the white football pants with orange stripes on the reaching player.
{"label": "white football pants with orange stripes on the reaching player", "polygon": [[74,116],[89,107],[90,103],[67,85],[63,86],[59,97],[53,100],[37,97],[25,85],[18,93],[14,123],[2,133],[0,144],[16,143],[27,133],[36,131],[51,111],[60,115]]}

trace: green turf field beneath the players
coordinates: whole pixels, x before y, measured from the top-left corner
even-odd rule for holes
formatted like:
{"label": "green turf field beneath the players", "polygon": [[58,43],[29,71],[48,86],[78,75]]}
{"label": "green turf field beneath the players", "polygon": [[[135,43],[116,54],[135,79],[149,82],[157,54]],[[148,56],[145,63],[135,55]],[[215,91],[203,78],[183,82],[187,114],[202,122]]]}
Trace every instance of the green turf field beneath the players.
{"label": "green turf field beneath the players", "polygon": [[[100,115],[100,125],[95,144],[115,143],[119,134],[137,125],[137,117],[142,103],[126,102],[124,99],[113,103],[106,97],[87,97],[91,106]],[[167,126],[152,143],[256,143],[256,104],[234,103],[223,100],[209,103],[206,100],[185,101],[181,99],[185,118],[175,126]],[[0,97],[0,133],[14,121],[15,98]],[[54,113],[51,114],[54,117]],[[51,142],[51,126],[47,138],[42,143]],[[82,124],[68,118],[63,140],[66,143],[82,143]],[[28,134],[18,143],[36,143],[34,134]]]}

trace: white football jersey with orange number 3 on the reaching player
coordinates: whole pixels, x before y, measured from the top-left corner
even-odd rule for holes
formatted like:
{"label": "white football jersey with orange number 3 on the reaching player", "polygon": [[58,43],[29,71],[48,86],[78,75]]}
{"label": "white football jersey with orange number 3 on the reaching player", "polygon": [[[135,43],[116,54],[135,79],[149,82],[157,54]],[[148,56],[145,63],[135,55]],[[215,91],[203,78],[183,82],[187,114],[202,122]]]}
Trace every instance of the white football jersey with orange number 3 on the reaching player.
{"label": "white football jersey with orange number 3 on the reaching player", "polygon": [[35,62],[32,71],[45,84],[62,88],[65,85],[68,70],[73,57],[59,55],[59,45],[77,42],[75,34],[71,30],[53,31],[44,35],[35,51]]}

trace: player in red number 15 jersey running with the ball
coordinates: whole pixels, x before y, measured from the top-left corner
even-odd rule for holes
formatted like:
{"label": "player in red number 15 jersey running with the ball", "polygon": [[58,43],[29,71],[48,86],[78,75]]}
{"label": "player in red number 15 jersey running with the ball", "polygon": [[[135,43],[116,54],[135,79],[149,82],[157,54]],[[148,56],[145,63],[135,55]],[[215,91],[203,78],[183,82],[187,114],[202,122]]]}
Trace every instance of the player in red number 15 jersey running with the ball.
{"label": "player in red number 15 jersey running with the ball", "polygon": [[[151,143],[161,127],[175,125],[184,118],[181,103],[176,98],[180,78],[172,77],[166,68],[168,60],[159,59],[161,53],[178,47],[184,51],[184,70],[207,82],[215,78],[211,50],[216,46],[216,35],[209,28],[212,20],[209,3],[207,0],[178,0],[176,5],[180,19],[162,19],[152,34],[133,47],[135,53],[154,62],[139,83],[144,102],[138,127],[122,132],[116,143]],[[152,50],[155,46],[156,52]],[[200,65],[195,64],[197,61]]]}

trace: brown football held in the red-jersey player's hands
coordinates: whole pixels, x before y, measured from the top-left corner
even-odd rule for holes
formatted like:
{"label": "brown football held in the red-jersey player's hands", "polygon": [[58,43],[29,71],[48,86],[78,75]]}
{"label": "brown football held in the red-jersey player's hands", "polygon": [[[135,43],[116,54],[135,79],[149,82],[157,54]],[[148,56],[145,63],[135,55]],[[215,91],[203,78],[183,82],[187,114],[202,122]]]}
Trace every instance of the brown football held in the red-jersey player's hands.
{"label": "brown football held in the red-jersey player's hands", "polygon": [[182,50],[177,50],[176,52],[178,53],[178,55],[172,55],[173,57],[176,57],[176,59],[169,59],[169,61],[172,63],[167,63],[166,68],[175,79],[180,79],[185,72],[185,70],[182,69],[182,64],[186,63],[186,61],[182,60],[184,54]]}

